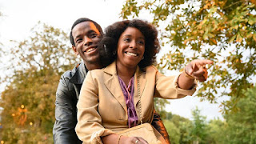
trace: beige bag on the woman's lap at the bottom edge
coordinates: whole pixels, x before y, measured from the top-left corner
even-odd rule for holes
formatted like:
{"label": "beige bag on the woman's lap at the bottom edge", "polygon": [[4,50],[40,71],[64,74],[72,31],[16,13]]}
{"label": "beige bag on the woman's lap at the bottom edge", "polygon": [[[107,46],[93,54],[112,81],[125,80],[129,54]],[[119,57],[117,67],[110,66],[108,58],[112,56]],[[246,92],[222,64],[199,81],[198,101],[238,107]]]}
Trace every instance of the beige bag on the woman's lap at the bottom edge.
{"label": "beige bag on the woman's lap at the bottom edge", "polygon": [[119,131],[118,134],[129,137],[142,137],[149,144],[166,144],[165,138],[150,123],[143,123],[142,125]]}

